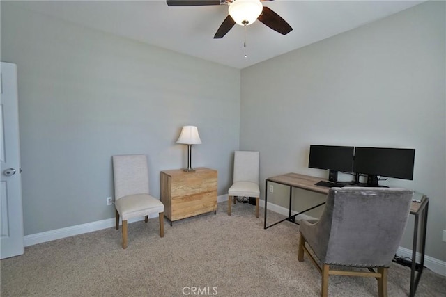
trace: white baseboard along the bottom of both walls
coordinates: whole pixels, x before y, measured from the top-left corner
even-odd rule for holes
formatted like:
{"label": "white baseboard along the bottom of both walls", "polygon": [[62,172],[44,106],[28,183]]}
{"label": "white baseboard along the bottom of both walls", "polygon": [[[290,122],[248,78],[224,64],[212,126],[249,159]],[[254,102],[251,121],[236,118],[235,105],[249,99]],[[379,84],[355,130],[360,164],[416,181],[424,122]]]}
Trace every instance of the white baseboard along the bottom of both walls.
{"label": "white baseboard along the bottom of both walls", "polygon": [[[228,195],[220,195],[217,197],[217,202],[224,202],[228,200]],[[259,207],[265,208],[265,200],[260,200]],[[288,216],[288,208],[281,207],[276,204],[272,204],[268,202],[268,209],[278,214],[282,214],[284,216]],[[291,214],[298,214],[297,211],[291,211]],[[157,214],[150,216],[150,218],[157,218]],[[301,214],[296,216],[296,219],[314,219],[312,216],[307,216],[305,214]],[[134,223],[139,220],[144,220],[144,218],[137,218],[129,220],[128,223]],[[115,218],[107,218],[106,220],[98,220],[97,222],[86,223],[81,225],[75,225],[71,227],[61,228],[57,230],[51,230],[47,232],[40,232],[36,234],[26,235],[24,236],[24,246],[33,246],[38,243],[44,243],[47,241],[53,241],[56,239],[63,239],[70,236],[75,236],[79,234],[89,233],[93,231],[98,231],[102,229],[107,229],[114,227]],[[400,257],[412,257],[412,250],[408,248],[399,247],[397,250],[397,255]],[[420,259],[420,254],[417,253],[417,259]],[[443,262],[439,259],[424,256],[424,266],[431,269],[431,271],[438,273],[440,275],[446,276],[446,262]]]}

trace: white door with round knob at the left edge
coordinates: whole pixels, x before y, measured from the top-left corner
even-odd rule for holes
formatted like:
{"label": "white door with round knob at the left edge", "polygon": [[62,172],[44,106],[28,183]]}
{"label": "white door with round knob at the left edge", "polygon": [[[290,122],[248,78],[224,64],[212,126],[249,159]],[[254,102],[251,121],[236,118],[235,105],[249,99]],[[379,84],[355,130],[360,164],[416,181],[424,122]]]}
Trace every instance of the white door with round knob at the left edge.
{"label": "white door with round knob at the left edge", "polygon": [[17,66],[1,62],[0,70],[0,257],[4,259],[22,255],[24,243]]}

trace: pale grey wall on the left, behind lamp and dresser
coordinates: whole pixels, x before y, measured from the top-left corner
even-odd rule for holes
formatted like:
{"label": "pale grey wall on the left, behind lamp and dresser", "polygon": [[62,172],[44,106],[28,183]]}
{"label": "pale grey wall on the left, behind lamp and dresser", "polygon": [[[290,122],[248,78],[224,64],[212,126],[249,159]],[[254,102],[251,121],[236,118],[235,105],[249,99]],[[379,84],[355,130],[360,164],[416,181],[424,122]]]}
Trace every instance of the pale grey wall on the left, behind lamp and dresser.
{"label": "pale grey wall on the left, behind lamp and dresser", "polygon": [[113,154],[147,154],[159,197],[160,170],[187,164],[175,143],[183,125],[197,125],[203,142],[192,166],[218,170],[219,195],[229,188],[240,70],[5,1],[1,61],[17,64],[25,235],[114,217]]}

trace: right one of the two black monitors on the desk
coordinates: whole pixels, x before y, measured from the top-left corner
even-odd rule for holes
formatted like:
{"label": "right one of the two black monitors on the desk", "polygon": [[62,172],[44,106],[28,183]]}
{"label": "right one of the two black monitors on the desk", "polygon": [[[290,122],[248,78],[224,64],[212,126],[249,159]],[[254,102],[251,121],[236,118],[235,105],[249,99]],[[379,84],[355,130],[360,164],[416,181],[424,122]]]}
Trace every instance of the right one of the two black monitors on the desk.
{"label": "right one of the two black monitors on the desk", "polygon": [[413,179],[414,149],[356,147],[353,172]]}

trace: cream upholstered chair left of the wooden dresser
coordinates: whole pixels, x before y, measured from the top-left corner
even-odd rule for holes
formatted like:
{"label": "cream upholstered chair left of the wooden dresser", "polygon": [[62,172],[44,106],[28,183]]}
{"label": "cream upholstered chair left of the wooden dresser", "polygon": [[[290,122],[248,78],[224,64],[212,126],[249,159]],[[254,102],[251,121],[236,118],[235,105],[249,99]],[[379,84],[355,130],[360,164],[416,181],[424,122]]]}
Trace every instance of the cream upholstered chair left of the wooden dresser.
{"label": "cream upholstered chair left of the wooden dresser", "polygon": [[123,248],[127,248],[127,220],[158,214],[160,236],[164,236],[164,204],[148,193],[147,157],[144,154],[113,156],[116,230],[123,221]]}

